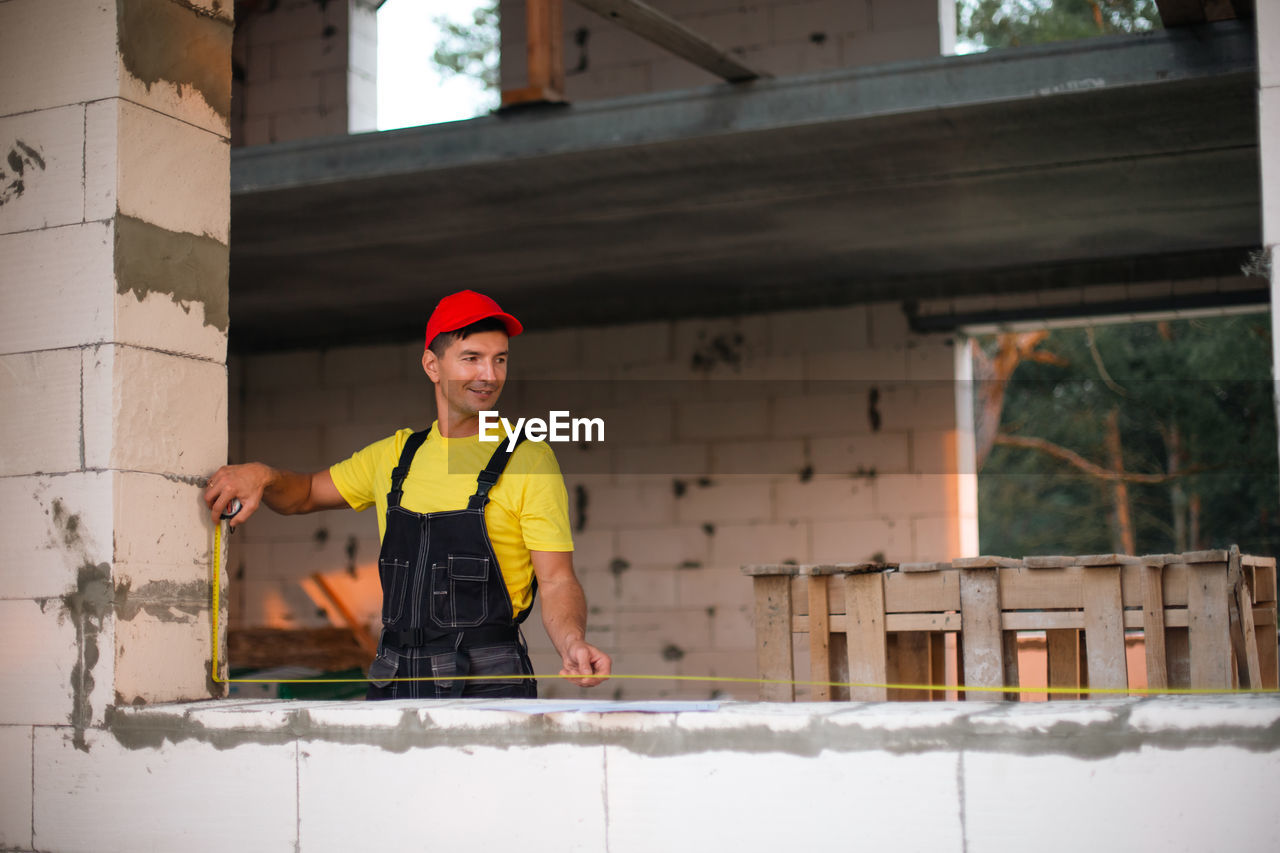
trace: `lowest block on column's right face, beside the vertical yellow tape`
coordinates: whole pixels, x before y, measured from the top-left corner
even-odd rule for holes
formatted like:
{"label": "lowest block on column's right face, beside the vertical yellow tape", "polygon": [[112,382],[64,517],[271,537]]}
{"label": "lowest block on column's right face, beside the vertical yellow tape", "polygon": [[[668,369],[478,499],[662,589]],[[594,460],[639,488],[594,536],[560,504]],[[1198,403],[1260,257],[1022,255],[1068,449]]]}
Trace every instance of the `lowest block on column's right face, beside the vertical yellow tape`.
{"label": "lowest block on column's right face, beside the vertical yellow tape", "polygon": [[[189,612],[197,606],[202,610]],[[124,697],[122,704],[210,698],[210,613],[209,602],[192,601],[183,606],[152,605],[132,619],[116,619],[115,693]]]}

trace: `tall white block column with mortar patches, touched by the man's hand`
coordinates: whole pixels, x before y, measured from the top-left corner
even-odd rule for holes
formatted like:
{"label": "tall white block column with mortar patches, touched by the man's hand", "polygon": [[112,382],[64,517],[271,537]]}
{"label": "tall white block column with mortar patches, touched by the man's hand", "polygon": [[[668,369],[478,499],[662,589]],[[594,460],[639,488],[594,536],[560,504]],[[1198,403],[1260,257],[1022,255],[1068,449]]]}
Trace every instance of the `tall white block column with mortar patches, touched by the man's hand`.
{"label": "tall white block column with mortar patches, touched by the man's hand", "polygon": [[0,727],[220,693],[230,45],[230,0],[0,3]]}

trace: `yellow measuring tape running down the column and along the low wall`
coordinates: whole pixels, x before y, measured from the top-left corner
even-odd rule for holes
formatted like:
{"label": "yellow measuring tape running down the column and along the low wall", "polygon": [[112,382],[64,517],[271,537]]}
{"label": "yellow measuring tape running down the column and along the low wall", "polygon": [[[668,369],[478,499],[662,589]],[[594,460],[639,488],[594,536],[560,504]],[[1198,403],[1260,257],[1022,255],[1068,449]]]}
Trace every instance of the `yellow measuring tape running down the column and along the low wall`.
{"label": "yellow measuring tape running down the column and along the low wall", "polygon": [[[212,680],[215,684],[367,684],[369,679],[224,679],[218,666],[218,617],[221,607],[221,546],[223,525],[219,523],[214,528],[214,660]],[[524,675],[522,679],[558,679],[568,680],[582,678],[576,675]],[[387,679],[388,681],[509,681],[511,675],[425,675],[419,678]],[[960,693],[1044,693],[1050,695],[1066,695],[1082,693],[1088,695],[1222,695],[1238,693],[1276,693],[1272,688],[1091,688],[1091,686],[968,686],[956,684],[881,684],[874,681],[801,681],[791,679],[750,679],[739,676],[717,675],[609,675],[608,680],[631,681],[699,681],[708,684],[777,684],[792,686],[827,686],[827,688],[870,688],[884,690],[929,690]]]}

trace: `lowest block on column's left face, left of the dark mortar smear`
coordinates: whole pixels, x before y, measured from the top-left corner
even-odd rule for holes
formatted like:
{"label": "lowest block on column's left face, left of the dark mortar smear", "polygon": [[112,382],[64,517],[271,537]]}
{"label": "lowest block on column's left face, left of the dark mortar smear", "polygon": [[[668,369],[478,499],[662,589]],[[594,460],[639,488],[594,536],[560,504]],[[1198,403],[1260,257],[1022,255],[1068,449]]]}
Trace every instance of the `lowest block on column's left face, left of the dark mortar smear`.
{"label": "lowest block on column's left face, left of the dark mortar smear", "polygon": [[[44,601],[0,601],[0,672],[10,685],[0,692],[0,725],[67,725],[72,712],[76,626],[59,598]],[[111,660],[106,639],[99,638],[102,670]]]}

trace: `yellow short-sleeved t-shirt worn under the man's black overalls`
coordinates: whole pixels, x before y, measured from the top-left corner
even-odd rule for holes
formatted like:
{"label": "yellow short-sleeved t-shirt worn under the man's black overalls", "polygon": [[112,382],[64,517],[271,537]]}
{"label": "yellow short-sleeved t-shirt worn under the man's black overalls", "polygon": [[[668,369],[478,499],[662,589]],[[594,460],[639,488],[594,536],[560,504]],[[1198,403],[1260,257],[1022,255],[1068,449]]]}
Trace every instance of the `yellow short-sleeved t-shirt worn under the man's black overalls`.
{"label": "yellow short-sleeved t-shirt worn under the man's black overalls", "polygon": [[[378,538],[387,533],[387,492],[412,429],[356,451],[329,469],[334,485],[357,512],[378,507]],[[506,439],[503,439],[506,441]],[[444,438],[435,423],[413,455],[401,506],[413,512],[462,510],[475,494],[476,475],[499,447],[479,435]],[[516,613],[532,605],[530,551],[572,551],[568,494],[556,453],[545,442],[522,442],[489,492],[485,525]]]}

